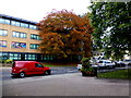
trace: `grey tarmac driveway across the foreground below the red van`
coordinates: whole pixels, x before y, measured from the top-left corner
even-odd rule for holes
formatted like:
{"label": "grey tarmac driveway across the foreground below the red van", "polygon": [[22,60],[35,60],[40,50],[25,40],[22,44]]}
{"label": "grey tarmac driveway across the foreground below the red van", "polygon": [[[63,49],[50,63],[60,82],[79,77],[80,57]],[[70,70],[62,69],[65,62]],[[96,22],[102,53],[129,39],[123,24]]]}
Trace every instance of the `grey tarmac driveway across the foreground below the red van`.
{"label": "grey tarmac driveway across the foreground below the red van", "polygon": [[81,73],[4,81],[2,88],[3,96],[129,96],[129,81],[83,77]]}

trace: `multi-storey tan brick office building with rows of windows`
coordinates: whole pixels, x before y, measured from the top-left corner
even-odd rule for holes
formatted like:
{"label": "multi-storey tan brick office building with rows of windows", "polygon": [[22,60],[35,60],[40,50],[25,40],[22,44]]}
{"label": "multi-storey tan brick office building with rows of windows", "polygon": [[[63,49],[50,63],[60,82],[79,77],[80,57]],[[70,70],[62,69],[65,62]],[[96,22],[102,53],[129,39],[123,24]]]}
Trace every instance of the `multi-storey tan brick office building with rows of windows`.
{"label": "multi-storey tan brick office building with rows of windows", "polygon": [[40,42],[36,22],[0,14],[0,57],[12,60],[53,60],[37,49]]}

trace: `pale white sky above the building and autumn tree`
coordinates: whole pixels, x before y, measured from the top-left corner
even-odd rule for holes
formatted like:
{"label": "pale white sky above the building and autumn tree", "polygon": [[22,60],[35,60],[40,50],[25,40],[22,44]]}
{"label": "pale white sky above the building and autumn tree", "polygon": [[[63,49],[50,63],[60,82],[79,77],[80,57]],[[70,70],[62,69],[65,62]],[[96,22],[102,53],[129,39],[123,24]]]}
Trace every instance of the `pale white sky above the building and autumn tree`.
{"label": "pale white sky above the building and autumn tree", "polygon": [[1,0],[0,3],[0,14],[39,22],[52,9],[66,9],[82,15],[88,12],[91,0]]}

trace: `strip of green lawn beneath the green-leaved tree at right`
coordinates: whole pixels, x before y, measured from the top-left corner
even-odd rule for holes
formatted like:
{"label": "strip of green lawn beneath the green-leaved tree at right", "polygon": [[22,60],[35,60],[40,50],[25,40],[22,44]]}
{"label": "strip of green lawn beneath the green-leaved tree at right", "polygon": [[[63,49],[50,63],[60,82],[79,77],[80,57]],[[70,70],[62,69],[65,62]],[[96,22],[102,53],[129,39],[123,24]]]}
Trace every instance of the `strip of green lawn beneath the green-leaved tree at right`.
{"label": "strip of green lawn beneath the green-leaved tree at right", "polygon": [[131,79],[131,69],[119,70],[119,71],[107,72],[107,73],[98,73],[98,77]]}

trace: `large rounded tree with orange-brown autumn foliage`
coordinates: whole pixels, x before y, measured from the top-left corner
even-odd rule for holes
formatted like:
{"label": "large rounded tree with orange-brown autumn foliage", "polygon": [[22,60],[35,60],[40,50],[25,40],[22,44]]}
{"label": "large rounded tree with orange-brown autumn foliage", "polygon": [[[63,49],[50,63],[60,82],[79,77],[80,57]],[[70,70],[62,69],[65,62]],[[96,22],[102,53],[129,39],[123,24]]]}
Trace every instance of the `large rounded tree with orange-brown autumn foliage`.
{"label": "large rounded tree with orange-brown autumn foliage", "polygon": [[75,56],[91,57],[91,33],[87,15],[78,16],[67,10],[53,10],[37,24],[44,54],[56,54],[60,59]]}

